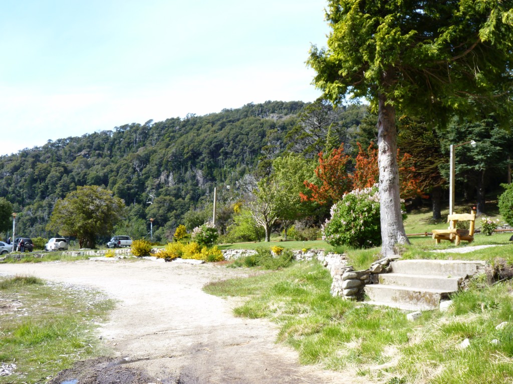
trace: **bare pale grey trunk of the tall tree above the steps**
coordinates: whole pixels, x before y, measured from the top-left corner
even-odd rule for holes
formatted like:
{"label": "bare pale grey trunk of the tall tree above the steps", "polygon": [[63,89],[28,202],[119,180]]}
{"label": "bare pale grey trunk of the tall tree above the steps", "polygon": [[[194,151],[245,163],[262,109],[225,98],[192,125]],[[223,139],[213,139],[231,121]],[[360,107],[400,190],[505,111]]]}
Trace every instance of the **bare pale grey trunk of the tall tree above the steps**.
{"label": "bare pale grey trunk of the tall tree above the steps", "polygon": [[[386,83],[387,74],[384,74]],[[394,245],[409,244],[403,225],[399,197],[397,166],[396,109],[386,104],[386,96],[378,96],[378,166],[380,169],[381,252],[384,257],[394,254]]]}

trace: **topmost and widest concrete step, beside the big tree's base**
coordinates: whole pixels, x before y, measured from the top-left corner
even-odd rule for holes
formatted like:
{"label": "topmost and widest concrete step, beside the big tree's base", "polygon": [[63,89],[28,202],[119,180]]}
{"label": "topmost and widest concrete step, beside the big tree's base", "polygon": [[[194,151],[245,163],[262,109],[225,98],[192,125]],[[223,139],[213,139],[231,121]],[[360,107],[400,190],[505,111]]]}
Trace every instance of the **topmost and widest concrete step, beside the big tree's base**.
{"label": "topmost and widest concrete step, beside the big tree's base", "polygon": [[390,266],[393,273],[465,278],[484,273],[486,263],[466,260],[398,260],[391,262]]}

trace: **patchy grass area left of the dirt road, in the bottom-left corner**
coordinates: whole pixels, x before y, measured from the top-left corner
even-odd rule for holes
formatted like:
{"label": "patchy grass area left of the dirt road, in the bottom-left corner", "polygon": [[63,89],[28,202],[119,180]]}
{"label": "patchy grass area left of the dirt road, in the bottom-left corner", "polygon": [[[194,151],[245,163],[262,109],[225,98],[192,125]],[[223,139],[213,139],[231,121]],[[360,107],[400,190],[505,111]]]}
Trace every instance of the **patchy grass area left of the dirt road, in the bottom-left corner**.
{"label": "patchy grass area left of the dirt road, in the bottom-left corner", "polygon": [[113,302],[80,287],[34,276],[0,278],[0,363],[15,364],[0,383],[46,382],[74,361],[102,354],[95,323]]}

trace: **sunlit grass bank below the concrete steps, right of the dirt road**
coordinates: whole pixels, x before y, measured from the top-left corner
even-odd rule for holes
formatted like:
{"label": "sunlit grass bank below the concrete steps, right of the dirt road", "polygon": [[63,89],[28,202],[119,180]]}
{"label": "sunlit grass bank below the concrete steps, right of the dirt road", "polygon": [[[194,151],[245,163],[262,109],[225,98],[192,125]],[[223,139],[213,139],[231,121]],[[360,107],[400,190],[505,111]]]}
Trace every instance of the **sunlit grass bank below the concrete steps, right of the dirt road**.
{"label": "sunlit grass bank below the concrete steps, right of the dirt road", "polygon": [[[477,279],[453,297],[449,311],[427,311],[415,322],[397,309],[332,297],[330,286],[328,271],[312,262],[204,289],[247,297],[235,315],[277,323],[279,340],[297,349],[303,364],[384,383],[513,380],[513,283],[489,287]],[[509,325],[497,330],[504,321]],[[470,347],[460,349],[465,338]]]}

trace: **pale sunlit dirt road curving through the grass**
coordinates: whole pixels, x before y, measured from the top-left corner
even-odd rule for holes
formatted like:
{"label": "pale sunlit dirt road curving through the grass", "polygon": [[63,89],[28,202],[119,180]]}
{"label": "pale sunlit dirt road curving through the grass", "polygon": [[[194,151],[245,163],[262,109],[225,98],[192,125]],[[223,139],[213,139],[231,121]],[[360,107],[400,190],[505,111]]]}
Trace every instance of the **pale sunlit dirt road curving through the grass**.
{"label": "pale sunlit dirt road curving through the grass", "polygon": [[300,366],[294,350],[275,344],[272,323],[234,317],[234,301],[202,291],[210,281],[245,273],[152,261],[0,265],[0,275],[90,286],[119,301],[100,329],[103,340],[118,359],[144,359],[126,366],[163,383],[354,382],[354,377]]}

